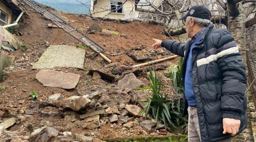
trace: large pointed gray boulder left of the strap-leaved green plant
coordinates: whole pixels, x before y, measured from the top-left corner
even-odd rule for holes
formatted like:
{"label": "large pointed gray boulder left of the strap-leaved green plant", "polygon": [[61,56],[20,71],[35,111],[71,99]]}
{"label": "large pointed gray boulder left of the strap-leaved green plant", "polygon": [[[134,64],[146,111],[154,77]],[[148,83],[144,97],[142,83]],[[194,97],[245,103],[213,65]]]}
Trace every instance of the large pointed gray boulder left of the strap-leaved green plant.
{"label": "large pointed gray boulder left of the strap-leaved green plant", "polygon": [[121,80],[118,81],[118,86],[127,90],[127,92],[131,91],[136,87],[140,87],[142,85],[142,81],[136,78],[133,73],[129,73],[124,76]]}

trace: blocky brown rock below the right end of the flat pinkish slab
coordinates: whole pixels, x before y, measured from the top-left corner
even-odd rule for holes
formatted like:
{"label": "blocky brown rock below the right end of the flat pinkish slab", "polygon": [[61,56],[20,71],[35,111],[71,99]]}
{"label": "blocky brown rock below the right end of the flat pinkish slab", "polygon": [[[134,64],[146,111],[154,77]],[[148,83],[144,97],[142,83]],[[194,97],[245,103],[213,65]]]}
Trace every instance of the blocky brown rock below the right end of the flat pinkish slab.
{"label": "blocky brown rock below the right end of the flat pinkish slab", "polygon": [[69,108],[79,111],[82,108],[85,108],[89,105],[89,102],[84,99],[84,97],[79,97],[76,100],[72,101],[72,103],[69,105]]}

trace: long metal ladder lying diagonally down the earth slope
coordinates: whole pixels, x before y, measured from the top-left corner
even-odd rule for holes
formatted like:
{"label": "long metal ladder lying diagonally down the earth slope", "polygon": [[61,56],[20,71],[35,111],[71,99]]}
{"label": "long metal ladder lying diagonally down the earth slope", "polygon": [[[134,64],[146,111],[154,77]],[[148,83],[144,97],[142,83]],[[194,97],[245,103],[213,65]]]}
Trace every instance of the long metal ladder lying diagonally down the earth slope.
{"label": "long metal ladder lying diagonally down the earth slope", "polygon": [[87,45],[94,52],[100,54],[100,56],[102,55],[102,53],[100,52],[104,51],[104,49],[100,47],[100,45],[98,45],[97,43],[89,39],[87,36],[82,34],[80,31],[78,31],[77,30],[78,27],[74,28],[73,26],[69,25],[66,21],[64,21],[57,15],[53,14],[51,11],[48,11],[42,5],[38,4],[34,0],[20,0],[20,1],[27,4],[29,7],[31,7],[36,12],[38,12],[41,16],[51,21],[54,25],[58,26],[60,29],[67,32],[68,34],[76,38],[78,41],[82,42],[84,45]]}

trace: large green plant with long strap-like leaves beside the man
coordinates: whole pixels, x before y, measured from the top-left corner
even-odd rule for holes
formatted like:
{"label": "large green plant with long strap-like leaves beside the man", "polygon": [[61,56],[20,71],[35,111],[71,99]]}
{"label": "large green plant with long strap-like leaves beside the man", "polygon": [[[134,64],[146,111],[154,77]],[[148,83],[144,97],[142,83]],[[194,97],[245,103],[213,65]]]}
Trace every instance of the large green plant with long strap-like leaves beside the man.
{"label": "large green plant with long strap-like leaves beside the man", "polygon": [[165,126],[186,128],[188,119],[182,118],[182,110],[180,109],[183,101],[180,99],[167,99],[168,93],[163,91],[164,85],[162,85],[161,79],[157,78],[156,72],[155,75],[153,75],[150,67],[149,80],[151,87],[137,88],[151,90],[153,92],[152,97],[148,100],[139,100],[148,103],[142,108],[140,115],[145,113],[145,116],[148,116],[148,114],[151,114],[156,121],[163,122]]}

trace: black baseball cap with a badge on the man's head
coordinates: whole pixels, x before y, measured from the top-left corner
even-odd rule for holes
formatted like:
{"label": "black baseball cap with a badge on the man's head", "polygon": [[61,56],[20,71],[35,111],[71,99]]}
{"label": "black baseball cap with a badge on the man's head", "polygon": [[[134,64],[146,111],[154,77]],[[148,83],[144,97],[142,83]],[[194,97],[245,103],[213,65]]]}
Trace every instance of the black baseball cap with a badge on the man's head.
{"label": "black baseball cap with a badge on the man's head", "polygon": [[211,15],[212,14],[208,8],[204,7],[203,5],[195,5],[192,6],[188,13],[179,20],[185,20],[188,16],[211,20]]}

